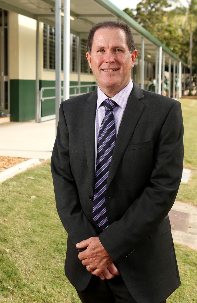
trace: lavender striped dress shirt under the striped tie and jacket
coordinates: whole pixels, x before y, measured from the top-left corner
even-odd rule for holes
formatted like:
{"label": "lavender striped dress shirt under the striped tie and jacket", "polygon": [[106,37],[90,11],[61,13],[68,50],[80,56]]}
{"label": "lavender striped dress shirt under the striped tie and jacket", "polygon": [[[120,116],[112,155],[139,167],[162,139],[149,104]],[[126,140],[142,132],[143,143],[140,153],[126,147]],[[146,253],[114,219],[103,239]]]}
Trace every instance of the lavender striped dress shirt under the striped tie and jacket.
{"label": "lavender striped dress shirt under the striped tie and jacket", "polygon": [[[133,88],[133,82],[130,79],[129,84],[125,86],[118,94],[116,94],[111,99],[114,100],[119,106],[115,106],[113,109],[113,115],[115,119],[115,137],[117,137],[120,123],[122,121],[122,116],[125,111],[125,107],[129,98],[129,95]],[[105,118],[105,107],[102,105],[102,102],[109,97],[106,96],[101,89],[97,88],[97,106],[96,106],[96,119],[95,119],[95,151],[97,151],[97,141],[99,137],[99,129],[103,119]],[[95,152],[95,169],[96,169],[96,152]]]}

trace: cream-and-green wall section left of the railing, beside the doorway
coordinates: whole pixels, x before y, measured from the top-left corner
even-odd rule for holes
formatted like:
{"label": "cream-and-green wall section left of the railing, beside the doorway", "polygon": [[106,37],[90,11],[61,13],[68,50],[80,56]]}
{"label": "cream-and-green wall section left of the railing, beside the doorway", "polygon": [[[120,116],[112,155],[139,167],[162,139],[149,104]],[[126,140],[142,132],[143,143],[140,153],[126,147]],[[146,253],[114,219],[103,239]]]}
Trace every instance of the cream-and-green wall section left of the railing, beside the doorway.
{"label": "cream-and-green wall section left of the railing, beside the doorway", "polygon": [[35,118],[36,21],[9,13],[11,121]]}

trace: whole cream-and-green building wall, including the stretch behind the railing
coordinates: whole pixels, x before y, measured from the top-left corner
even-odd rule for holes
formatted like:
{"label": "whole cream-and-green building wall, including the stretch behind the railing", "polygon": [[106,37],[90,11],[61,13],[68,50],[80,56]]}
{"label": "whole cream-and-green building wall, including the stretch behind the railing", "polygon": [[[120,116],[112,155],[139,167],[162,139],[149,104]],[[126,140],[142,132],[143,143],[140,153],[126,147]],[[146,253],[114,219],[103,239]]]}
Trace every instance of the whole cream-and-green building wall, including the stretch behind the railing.
{"label": "whole cream-and-green building wall, including the stretch behind the railing", "polygon": [[[36,21],[9,12],[9,75],[11,121],[35,118]],[[39,88],[55,87],[55,71],[43,70],[43,23],[39,23]],[[63,73],[62,73],[63,81]],[[81,85],[94,84],[93,75],[81,74]],[[70,85],[78,85],[78,74],[70,74]],[[63,86],[63,82],[62,82]],[[90,91],[93,90],[92,88]],[[81,92],[85,92],[81,89]],[[70,93],[74,93],[73,89]],[[43,96],[55,96],[45,90]],[[55,113],[55,98],[42,102],[42,115]]]}

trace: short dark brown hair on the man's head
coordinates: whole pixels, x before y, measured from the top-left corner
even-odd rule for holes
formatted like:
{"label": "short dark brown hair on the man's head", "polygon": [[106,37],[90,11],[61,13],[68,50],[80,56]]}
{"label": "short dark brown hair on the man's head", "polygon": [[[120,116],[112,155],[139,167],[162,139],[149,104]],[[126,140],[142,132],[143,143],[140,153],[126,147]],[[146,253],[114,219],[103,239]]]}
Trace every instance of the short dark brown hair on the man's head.
{"label": "short dark brown hair on the man's head", "polygon": [[93,43],[94,34],[99,28],[122,29],[125,32],[126,42],[127,42],[128,48],[129,48],[129,52],[132,53],[134,51],[135,43],[134,43],[133,35],[132,35],[129,25],[123,21],[104,21],[104,22],[99,22],[97,24],[94,24],[89,31],[88,40],[87,40],[87,44],[86,44],[87,52],[89,54],[91,54],[91,51],[92,51],[92,43]]}

